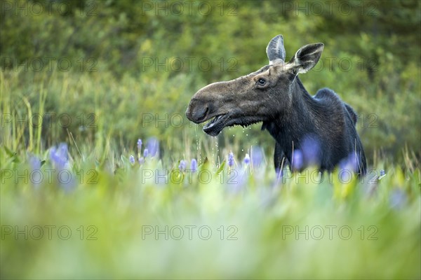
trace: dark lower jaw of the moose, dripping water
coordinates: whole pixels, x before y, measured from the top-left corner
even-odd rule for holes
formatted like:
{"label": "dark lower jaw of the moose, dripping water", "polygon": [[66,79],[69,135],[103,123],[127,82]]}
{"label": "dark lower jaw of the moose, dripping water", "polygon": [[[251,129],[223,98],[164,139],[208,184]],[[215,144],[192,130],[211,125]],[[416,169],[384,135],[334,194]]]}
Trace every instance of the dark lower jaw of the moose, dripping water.
{"label": "dark lower jaw of the moose, dripping water", "polygon": [[262,120],[255,117],[232,118],[229,114],[218,115],[203,127],[203,131],[206,132],[206,134],[215,137],[222,132],[224,127],[232,127],[234,125],[247,127],[248,125],[253,125],[254,123],[259,123],[260,121]]}

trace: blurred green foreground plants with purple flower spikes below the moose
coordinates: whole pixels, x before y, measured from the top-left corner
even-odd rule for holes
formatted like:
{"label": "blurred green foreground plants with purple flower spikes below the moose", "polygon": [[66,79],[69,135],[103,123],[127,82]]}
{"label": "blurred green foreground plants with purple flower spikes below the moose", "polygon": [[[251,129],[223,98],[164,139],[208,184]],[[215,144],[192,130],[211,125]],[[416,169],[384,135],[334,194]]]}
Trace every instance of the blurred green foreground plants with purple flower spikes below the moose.
{"label": "blurred green foreground plants with purple flower spikes below the moose", "polygon": [[419,169],[276,176],[259,148],[169,164],[144,142],[2,146],[2,278],[420,278]]}

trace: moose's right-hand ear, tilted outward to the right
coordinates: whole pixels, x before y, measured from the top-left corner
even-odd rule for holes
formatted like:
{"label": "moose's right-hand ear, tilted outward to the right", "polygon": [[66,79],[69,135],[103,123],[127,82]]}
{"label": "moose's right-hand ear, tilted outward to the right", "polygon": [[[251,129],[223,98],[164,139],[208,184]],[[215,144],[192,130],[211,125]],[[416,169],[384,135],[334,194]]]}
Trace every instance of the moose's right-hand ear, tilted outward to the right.
{"label": "moose's right-hand ear, tilted outward to the right", "polygon": [[323,48],[323,43],[305,45],[295,52],[295,55],[290,60],[289,64],[292,64],[291,66],[297,73],[305,73],[319,62]]}

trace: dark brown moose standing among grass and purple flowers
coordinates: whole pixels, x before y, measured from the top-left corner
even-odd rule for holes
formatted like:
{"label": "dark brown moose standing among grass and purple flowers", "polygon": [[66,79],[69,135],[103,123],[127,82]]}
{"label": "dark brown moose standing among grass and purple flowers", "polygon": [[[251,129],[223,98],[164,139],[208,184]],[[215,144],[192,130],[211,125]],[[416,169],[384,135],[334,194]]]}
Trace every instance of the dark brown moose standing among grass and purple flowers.
{"label": "dark brown moose standing among grass and purple flowers", "polygon": [[[189,103],[187,118],[197,124],[210,120],[203,131],[213,137],[224,127],[262,122],[262,130],[276,140],[276,172],[286,165],[294,171],[316,165],[332,172],[351,161],[354,172],[366,174],[354,109],[326,87],[312,97],[298,78],[319,62],[323,48],[323,43],[304,45],[285,62],[283,36],[275,36],[266,48],[269,65],[201,88]],[[301,165],[294,164],[297,155]]]}

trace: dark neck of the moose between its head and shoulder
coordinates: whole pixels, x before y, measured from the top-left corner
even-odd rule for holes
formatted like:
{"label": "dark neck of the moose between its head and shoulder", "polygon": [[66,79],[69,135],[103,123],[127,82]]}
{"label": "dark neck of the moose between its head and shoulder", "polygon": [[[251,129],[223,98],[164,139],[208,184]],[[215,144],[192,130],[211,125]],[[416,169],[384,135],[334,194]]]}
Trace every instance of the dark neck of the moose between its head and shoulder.
{"label": "dark neck of the moose between its head and shoulder", "polygon": [[300,146],[300,141],[307,134],[315,132],[316,111],[319,104],[305,90],[298,77],[295,78],[291,87],[290,106],[272,121],[263,123],[269,133],[284,148],[287,158],[293,149]]}

